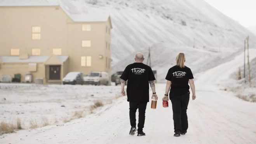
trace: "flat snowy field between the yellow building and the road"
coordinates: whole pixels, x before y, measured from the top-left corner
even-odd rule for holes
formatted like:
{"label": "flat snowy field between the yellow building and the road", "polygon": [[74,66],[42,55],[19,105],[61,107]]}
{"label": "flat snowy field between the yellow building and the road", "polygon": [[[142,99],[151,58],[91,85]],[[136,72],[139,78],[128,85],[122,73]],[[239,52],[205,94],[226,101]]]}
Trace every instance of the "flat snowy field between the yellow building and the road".
{"label": "flat snowy field between the yellow building and the road", "polygon": [[24,128],[30,121],[41,125],[45,118],[50,124],[63,124],[77,118],[76,113],[91,113],[95,101],[110,104],[119,91],[115,86],[0,83],[0,121],[21,118]]}

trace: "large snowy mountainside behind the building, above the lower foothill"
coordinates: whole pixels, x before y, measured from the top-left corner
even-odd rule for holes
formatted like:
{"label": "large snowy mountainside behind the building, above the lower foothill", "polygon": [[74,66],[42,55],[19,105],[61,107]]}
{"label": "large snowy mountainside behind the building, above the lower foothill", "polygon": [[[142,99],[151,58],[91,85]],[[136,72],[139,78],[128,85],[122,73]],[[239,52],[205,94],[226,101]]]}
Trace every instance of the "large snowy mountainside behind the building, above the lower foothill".
{"label": "large snowy mountainside behind the building, above the lower foothill", "polygon": [[204,0],[76,0],[71,4],[79,12],[110,14],[113,64],[160,42],[192,47],[195,38],[196,47],[216,49],[243,47],[247,35],[256,38]]}

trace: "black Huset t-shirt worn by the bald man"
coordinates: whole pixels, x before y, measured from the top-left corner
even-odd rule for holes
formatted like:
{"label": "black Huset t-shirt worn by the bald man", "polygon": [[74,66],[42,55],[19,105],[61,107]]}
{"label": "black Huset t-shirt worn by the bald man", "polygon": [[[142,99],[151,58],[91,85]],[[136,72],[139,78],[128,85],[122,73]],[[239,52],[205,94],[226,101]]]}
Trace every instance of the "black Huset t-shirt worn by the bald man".
{"label": "black Huset t-shirt worn by the bald man", "polygon": [[129,64],[124,73],[120,76],[127,82],[127,101],[130,102],[149,102],[149,82],[155,80],[150,66],[135,62]]}

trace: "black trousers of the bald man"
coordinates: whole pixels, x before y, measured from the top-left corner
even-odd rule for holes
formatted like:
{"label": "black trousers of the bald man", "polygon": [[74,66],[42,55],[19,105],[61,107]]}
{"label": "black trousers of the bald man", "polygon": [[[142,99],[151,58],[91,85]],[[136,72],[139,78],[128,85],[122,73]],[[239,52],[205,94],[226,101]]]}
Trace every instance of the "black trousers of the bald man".
{"label": "black trousers of the bald man", "polygon": [[136,127],[136,111],[139,108],[138,131],[142,131],[145,123],[145,111],[148,102],[130,102],[130,123]]}

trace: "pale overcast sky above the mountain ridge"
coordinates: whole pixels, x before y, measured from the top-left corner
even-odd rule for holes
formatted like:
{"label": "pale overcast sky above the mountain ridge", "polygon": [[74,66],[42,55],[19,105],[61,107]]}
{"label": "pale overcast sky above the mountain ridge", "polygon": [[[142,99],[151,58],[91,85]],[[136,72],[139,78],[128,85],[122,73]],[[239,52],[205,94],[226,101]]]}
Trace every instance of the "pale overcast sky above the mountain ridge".
{"label": "pale overcast sky above the mountain ridge", "polygon": [[256,0],[205,0],[245,27],[256,26]]}

